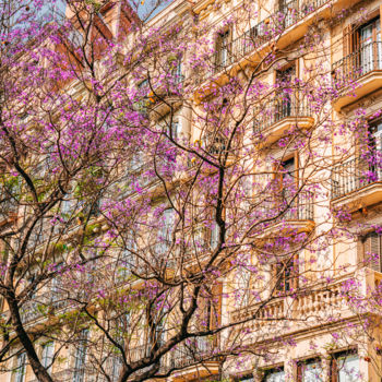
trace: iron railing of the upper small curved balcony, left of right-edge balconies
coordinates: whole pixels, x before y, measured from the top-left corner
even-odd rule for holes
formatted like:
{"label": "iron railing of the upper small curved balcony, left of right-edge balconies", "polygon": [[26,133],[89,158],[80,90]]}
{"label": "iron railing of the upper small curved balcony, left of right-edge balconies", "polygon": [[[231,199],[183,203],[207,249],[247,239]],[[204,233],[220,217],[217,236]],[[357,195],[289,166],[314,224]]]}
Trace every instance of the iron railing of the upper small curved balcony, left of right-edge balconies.
{"label": "iron railing of the upper small curved balcony, left of right-edge balconies", "polygon": [[310,117],[311,106],[306,97],[298,94],[280,96],[267,104],[265,112],[253,121],[253,130],[260,133],[286,118]]}

